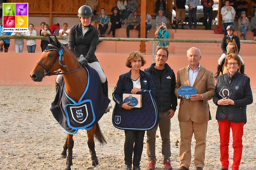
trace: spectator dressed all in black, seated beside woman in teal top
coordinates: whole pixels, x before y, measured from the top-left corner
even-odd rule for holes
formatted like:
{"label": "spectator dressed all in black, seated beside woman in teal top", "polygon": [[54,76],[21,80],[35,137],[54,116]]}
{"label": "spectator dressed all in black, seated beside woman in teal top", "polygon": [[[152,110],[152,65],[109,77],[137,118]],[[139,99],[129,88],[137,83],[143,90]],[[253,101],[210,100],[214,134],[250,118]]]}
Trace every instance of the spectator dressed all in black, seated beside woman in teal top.
{"label": "spectator dressed all in black, seated beside woman in teal top", "polygon": [[115,38],[115,29],[122,27],[122,16],[121,14],[118,13],[117,7],[114,8],[113,14],[111,14],[110,16],[110,22],[111,22],[111,27],[107,35],[109,35],[111,31],[113,31],[112,35],[113,35],[113,38]]}

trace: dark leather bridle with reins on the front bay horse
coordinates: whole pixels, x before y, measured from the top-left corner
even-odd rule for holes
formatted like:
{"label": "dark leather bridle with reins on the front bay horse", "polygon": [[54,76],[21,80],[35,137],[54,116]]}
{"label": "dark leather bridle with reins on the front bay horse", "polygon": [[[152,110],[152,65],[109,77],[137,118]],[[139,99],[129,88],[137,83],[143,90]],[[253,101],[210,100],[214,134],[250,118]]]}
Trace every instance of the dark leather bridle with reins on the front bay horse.
{"label": "dark leather bridle with reins on the front bay horse", "polygon": [[50,51],[50,50],[56,50],[56,51],[58,51],[58,53],[57,53],[57,55],[54,57],[54,60],[53,60],[53,62],[51,63],[51,65],[50,65],[49,67],[45,66],[44,64],[42,64],[42,63],[39,62],[39,61],[36,62],[37,64],[39,64],[39,65],[41,65],[43,68],[45,68],[45,76],[61,75],[61,74],[73,73],[73,72],[79,70],[79,69],[82,67],[82,65],[80,65],[80,67],[77,68],[76,70],[68,71],[68,72],[63,72],[63,73],[61,73],[61,70],[56,70],[56,71],[50,73],[50,70],[51,70],[51,68],[53,67],[54,63],[57,61],[58,57],[59,57],[59,64],[60,64],[63,68],[65,67],[64,65],[61,64],[61,57],[62,57],[62,61],[63,61],[64,49],[63,49],[62,46],[61,46],[60,48],[58,48],[58,47],[56,47],[56,46],[54,46],[54,45],[52,45],[52,44],[48,44],[48,46],[49,46],[49,47],[53,47],[53,48],[48,49],[48,50],[45,49],[45,52],[48,52],[48,51]]}

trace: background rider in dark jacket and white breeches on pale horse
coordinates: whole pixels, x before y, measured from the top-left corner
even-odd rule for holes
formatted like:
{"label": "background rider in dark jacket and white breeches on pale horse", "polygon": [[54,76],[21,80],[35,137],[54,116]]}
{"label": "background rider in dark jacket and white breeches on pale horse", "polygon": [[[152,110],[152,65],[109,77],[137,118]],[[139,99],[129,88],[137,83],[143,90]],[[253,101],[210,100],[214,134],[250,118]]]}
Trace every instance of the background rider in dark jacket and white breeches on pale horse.
{"label": "background rider in dark jacket and white breeches on pale horse", "polygon": [[[234,35],[234,31],[235,31],[235,28],[234,26],[232,25],[229,25],[227,26],[227,36],[224,36],[223,39],[222,39],[222,42],[221,42],[221,49],[223,51],[223,54],[221,55],[219,61],[218,61],[218,66],[217,66],[217,73],[215,73],[214,75],[214,78],[217,79],[218,76],[220,75],[220,72],[221,72],[221,63],[223,61],[223,59],[226,58],[227,56],[227,39],[230,40],[230,41],[233,41],[233,39],[235,39],[236,41],[236,45],[237,45],[237,50],[238,50],[238,53],[240,51],[240,40],[239,40],[239,37],[235,36]],[[242,62],[242,66],[240,68],[240,73],[241,74],[244,74],[244,62],[243,62],[243,59],[241,58],[240,55],[238,55],[241,62]]]}

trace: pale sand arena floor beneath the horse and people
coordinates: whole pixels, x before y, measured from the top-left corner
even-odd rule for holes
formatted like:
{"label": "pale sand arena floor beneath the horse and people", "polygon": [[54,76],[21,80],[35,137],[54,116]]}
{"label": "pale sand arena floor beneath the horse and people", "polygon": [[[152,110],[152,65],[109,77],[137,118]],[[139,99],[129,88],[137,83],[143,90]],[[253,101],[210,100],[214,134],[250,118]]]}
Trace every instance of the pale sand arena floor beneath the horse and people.
{"label": "pale sand arena floor beneath the horse and people", "polygon": [[[54,87],[32,86],[0,86],[0,169],[18,170],[63,170],[66,160],[60,158],[65,142],[66,133],[56,122],[50,112],[50,104],[54,99]],[[109,88],[111,96],[113,88]],[[256,90],[253,97],[256,99]],[[112,100],[112,99],[111,99]],[[215,120],[216,106],[212,101],[210,111],[213,120],[209,121],[207,131],[207,146],[204,170],[221,169],[218,124]],[[112,104],[113,100],[112,100]],[[112,111],[105,114],[99,121],[101,130],[107,140],[104,147],[95,143],[95,150],[101,169],[125,169],[123,144],[124,131],[116,129],[112,125]],[[256,107],[255,101],[247,107],[247,120],[244,126],[243,155],[240,169],[256,169]],[[178,110],[171,119],[171,164],[173,169],[179,168],[179,144],[175,146],[179,137]],[[156,139],[156,170],[164,170],[161,155],[161,137]],[[79,130],[74,135],[73,166],[72,169],[93,169],[90,161],[90,153],[87,146],[87,134],[85,130]],[[146,143],[146,135],[144,137]],[[192,148],[195,140],[192,139]],[[230,169],[232,165],[232,135],[230,139]],[[192,163],[190,169],[195,169]],[[148,166],[146,156],[146,144],[141,159],[141,169]]]}

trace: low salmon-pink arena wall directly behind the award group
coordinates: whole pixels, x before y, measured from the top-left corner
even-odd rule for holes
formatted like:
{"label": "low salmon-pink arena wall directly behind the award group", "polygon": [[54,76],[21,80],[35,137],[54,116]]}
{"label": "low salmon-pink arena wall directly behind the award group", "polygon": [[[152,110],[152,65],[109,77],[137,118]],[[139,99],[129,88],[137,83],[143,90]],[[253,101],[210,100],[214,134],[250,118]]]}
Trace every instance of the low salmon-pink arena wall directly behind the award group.
{"label": "low salmon-pink arena wall directly behind the award group", "polygon": [[[126,54],[96,53],[97,58],[109,81],[109,87],[114,87],[119,75],[129,71],[125,66]],[[33,82],[29,76],[31,70],[40,58],[41,53],[1,53],[0,56],[0,86],[54,86],[56,76],[46,77],[42,82]],[[152,55],[144,55],[147,63],[144,70],[152,63]],[[245,73],[250,77],[252,88],[256,88],[255,57],[244,57]],[[200,60],[202,66],[216,72],[218,57],[204,57]],[[186,56],[169,56],[167,63],[175,74],[179,68],[188,65]]]}

